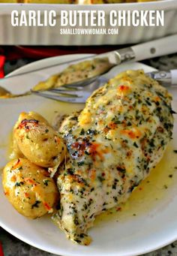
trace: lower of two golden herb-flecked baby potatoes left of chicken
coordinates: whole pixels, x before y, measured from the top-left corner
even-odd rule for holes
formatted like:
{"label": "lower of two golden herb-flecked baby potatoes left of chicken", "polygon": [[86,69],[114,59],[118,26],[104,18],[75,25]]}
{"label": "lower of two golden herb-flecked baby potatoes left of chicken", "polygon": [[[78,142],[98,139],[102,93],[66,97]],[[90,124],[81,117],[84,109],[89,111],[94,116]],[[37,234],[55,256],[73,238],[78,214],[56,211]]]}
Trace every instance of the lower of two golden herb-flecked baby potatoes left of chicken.
{"label": "lower of two golden herb-flecked baby potatoes left of chicken", "polygon": [[58,189],[49,173],[26,158],[10,161],[3,170],[5,195],[20,214],[28,218],[52,212]]}

